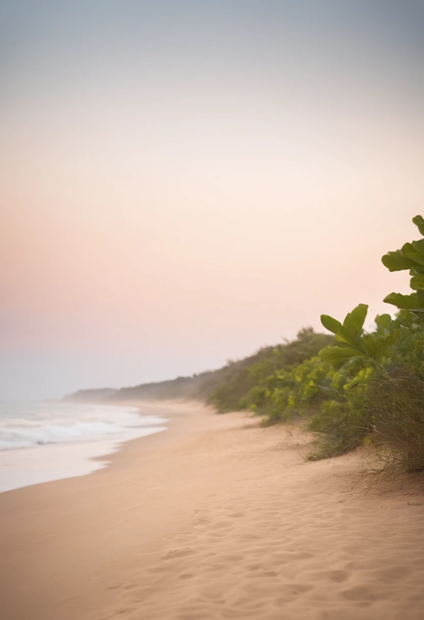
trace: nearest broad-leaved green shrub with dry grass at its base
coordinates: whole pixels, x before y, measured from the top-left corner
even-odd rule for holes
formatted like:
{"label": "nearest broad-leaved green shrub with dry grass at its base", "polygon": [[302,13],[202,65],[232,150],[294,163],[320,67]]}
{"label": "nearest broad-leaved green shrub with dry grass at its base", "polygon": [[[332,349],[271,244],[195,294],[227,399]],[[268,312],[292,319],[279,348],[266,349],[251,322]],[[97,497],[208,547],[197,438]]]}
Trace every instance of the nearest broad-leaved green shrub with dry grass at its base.
{"label": "nearest broad-leaved green shrub with dry grass at its base", "polygon": [[[413,223],[424,234],[424,219],[417,216]],[[343,324],[322,315],[337,346],[325,347],[319,355],[337,371],[332,387],[343,388],[345,397],[344,402],[325,403],[309,425],[324,433],[310,458],[342,454],[364,438],[371,441],[371,433],[373,464],[367,471],[394,475],[424,464],[424,239],[388,252],[382,262],[391,271],[409,269],[410,286],[417,292],[387,295],[384,301],[399,308],[397,317],[377,316],[371,334],[363,330],[364,304],[348,313]],[[345,382],[352,364],[356,376]]]}

